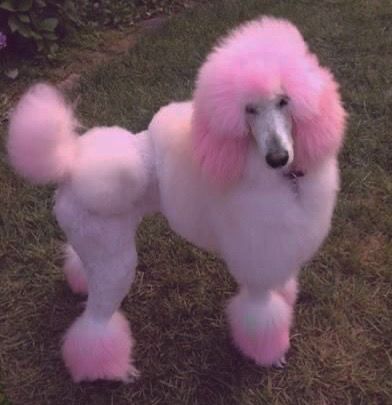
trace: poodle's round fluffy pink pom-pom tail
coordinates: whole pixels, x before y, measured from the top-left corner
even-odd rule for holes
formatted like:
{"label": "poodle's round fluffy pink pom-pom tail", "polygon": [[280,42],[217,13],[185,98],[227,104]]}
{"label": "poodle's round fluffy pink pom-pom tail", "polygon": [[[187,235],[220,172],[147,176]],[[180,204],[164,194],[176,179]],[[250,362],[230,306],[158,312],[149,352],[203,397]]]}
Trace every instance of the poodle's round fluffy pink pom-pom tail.
{"label": "poodle's round fluffy pink pom-pom tail", "polygon": [[76,125],[72,108],[54,87],[34,85],[11,114],[11,165],[34,183],[61,182],[76,156]]}

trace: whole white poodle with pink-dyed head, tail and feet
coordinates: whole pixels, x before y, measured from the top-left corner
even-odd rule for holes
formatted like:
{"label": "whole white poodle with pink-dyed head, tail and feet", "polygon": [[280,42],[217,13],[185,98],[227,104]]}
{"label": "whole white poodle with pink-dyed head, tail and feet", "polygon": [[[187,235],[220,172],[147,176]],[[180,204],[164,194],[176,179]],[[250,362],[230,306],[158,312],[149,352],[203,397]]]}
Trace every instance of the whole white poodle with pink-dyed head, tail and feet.
{"label": "whole white poodle with pink-dyed head, tail and feet", "polygon": [[227,318],[239,350],[283,366],[299,269],[330,228],[345,121],[331,72],[293,24],[272,17],[221,40],[192,101],[161,108],[136,135],[97,127],[79,137],[61,94],[31,88],[12,114],[8,152],[19,174],[58,186],[64,271],[88,293],[63,342],[73,380],[138,375],[119,307],[135,276],[136,229],[154,212],[238,282]]}

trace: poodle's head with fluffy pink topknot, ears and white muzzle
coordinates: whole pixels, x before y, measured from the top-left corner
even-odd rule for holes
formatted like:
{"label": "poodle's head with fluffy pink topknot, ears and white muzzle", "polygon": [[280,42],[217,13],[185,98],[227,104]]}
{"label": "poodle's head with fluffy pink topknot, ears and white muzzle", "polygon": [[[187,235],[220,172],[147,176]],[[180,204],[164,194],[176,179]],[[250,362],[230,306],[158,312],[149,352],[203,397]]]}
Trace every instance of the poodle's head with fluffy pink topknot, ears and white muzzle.
{"label": "poodle's head with fluffy pink topknot, ears and white muzzle", "polygon": [[337,154],[345,117],[332,74],[297,28],[263,17],[223,39],[199,71],[195,156],[223,183],[241,176],[251,143],[271,168],[307,171]]}

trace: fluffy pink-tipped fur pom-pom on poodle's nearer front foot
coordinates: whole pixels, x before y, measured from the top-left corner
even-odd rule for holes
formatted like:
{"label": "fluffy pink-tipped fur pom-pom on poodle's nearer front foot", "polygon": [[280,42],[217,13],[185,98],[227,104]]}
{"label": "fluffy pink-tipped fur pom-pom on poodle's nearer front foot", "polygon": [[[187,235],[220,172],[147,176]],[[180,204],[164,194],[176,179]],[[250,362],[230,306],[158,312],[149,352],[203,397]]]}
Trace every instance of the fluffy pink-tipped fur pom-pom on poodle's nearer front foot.
{"label": "fluffy pink-tipped fur pom-pom on poodle's nearer front foot", "polygon": [[236,346],[257,364],[270,366],[289,349],[292,310],[274,292],[264,300],[241,291],[231,300],[227,314]]}

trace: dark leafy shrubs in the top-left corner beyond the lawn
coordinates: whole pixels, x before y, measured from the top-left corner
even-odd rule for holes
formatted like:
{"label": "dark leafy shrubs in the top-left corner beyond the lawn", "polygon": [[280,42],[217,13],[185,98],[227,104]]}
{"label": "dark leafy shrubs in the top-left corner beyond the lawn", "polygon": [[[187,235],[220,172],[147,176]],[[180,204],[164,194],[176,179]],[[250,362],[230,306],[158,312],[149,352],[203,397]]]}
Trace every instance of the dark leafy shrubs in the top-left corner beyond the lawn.
{"label": "dark leafy shrubs in the top-left corner beyond the lawn", "polygon": [[53,57],[62,38],[81,27],[122,29],[142,19],[172,14],[190,0],[0,0],[0,52]]}

